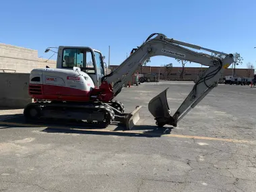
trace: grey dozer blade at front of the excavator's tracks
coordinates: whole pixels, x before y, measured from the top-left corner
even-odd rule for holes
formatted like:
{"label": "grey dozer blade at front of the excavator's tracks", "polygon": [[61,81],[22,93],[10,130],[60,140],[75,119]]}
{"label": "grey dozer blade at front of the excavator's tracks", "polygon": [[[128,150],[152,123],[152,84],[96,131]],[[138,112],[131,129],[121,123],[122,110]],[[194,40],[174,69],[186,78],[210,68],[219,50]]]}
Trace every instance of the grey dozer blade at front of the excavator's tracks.
{"label": "grey dozer blade at front of the excavator's tracks", "polygon": [[136,106],[132,113],[123,113],[122,115],[115,115],[115,121],[119,121],[125,125],[127,130],[131,130],[133,126],[139,121],[139,109],[141,106]]}

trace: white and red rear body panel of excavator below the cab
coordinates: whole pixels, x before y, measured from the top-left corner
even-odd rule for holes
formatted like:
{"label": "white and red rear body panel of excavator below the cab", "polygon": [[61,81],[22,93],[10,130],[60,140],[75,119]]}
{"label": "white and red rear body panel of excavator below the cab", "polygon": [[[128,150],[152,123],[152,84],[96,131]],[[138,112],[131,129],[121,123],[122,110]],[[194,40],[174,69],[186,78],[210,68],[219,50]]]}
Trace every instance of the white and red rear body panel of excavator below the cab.
{"label": "white and red rear body panel of excavator below the cab", "polygon": [[[32,81],[35,78],[38,81]],[[35,69],[30,75],[30,96],[36,99],[88,101],[93,88],[92,79],[82,71]]]}

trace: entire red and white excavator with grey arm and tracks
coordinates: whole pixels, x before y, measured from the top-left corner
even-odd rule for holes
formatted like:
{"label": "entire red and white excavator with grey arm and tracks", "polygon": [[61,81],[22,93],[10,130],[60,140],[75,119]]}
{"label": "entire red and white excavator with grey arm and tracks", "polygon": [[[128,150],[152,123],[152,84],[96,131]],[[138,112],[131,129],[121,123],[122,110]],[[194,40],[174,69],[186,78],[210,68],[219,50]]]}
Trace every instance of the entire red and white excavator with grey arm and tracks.
{"label": "entire red and white excavator with grey arm and tracks", "polygon": [[[213,57],[188,48],[224,57]],[[29,94],[34,101],[24,108],[27,121],[72,119],[102,127],[117,121],[123,123],[126,129],[131,129],[139,121],[141,106],[136,106],[132,113],[125,113],[125,107],[115,97],[143,61],[154,56],[166,56],[209,66],[173,115],[166,98],[168,88],[148,103],[148,110],[158,127],[177,127],[189,110],[218,86],[224,69],[234,62],[232,54],[174,40],[160,33],[151,34],[109,74],[104,72],[104,57],[100,51],[87,46],[59,46],[57,49],[56,68],[46,66],[44,69],[33,69],[30,73]]]}

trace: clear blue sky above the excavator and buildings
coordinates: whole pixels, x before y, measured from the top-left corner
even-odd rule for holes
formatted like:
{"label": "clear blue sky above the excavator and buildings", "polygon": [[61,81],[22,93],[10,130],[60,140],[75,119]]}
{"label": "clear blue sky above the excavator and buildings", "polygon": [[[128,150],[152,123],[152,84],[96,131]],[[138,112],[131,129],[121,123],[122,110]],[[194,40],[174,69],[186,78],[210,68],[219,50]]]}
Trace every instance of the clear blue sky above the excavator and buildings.
{"label": "clear blue sky above the excavator and buildings", "polygon": [[[36,49],[46,59],[52,55],[44,53],[49,46],[91,46],[105,55],[107,64],[110,46],[110,65],[120,65],[150,34],[162,33],[207,49],[240,53],[243,64],[238,68],[248,62],[256,67],[255,7],[255,0],[1,1],[0,42]],[[168,63],[181,66],[170,57],[152,57],[149,65]]]}

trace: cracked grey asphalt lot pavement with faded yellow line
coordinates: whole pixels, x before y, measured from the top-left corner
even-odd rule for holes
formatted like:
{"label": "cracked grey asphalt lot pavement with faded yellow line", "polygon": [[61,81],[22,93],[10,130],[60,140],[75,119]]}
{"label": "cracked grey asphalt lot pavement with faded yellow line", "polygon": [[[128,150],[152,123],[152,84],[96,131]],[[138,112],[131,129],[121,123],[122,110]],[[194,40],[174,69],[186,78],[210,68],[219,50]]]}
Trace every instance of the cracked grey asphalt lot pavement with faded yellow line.
{"label": "cracked grey asphalt lot pavement with faded yellow line", "polygon": [[193,82],[144,83],[117,99],[141,105],[131,131],[28,125],[0,110],[0,191],[256,191],[256,88],[219,85],[177,127],[156,127],[148,102],[168,89],[172,113]]}

